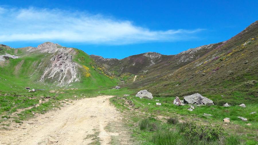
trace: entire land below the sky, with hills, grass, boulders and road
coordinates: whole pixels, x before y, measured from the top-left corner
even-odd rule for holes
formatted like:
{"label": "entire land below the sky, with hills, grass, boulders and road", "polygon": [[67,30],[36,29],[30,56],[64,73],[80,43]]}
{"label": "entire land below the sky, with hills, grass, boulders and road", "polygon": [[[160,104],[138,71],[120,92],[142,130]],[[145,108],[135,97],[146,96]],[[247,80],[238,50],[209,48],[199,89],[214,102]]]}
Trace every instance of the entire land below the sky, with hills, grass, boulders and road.
{"label": "entire land below the sky, with hills, grass, boulders and road", "polygon": [[0,144],[258,144],[258,21],[177,55],[0,44]]}

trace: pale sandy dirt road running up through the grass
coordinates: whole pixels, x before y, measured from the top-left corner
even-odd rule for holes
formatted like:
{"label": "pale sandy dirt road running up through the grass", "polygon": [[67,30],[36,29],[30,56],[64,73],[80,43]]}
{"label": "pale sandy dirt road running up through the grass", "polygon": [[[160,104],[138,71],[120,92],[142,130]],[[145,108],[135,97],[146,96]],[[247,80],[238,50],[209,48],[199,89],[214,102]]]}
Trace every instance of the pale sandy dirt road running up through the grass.
{"label": "pale sandy dirt road running up through the grass", "polygon": [[121,114],[110,105],[111,97],[73,101],[21,126],[16,124],[13,130],[1,130],[0,144],[110,144],[111,138],[130,144],[128,132],[121,127]]}

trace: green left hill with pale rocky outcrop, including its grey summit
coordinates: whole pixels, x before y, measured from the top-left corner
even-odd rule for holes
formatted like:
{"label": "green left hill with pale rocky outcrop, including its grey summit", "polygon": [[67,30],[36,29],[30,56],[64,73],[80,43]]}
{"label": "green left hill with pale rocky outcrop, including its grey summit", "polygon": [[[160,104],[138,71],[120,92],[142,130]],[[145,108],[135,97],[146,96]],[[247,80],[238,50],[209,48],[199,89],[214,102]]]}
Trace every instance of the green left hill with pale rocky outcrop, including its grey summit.
{"label": "green left hill with pale rocky outcrop, including its grey summit", "polygon": [[[111,87],[120,81],[104,68],[95,64],[85,52],[46,42],[37,48],[13,49],[1,45],[1,89],[34,86],[45,88],[92,88]],[[16,86],[16,87],[15,87]]]}

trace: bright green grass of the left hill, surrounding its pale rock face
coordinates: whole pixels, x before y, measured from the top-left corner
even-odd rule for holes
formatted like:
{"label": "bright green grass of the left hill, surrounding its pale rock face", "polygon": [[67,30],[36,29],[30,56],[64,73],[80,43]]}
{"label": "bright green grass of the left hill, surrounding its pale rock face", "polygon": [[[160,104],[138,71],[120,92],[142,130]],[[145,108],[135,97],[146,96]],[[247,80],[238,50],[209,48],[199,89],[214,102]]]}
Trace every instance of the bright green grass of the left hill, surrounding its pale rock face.
{"label": "bright green grass of the left hill, surrounding its pale rock face", "polygon": [[[45,69],[52,63],[51,58],[58,55],[59,52],[40,53],[39,50],[27,50],[27,48],[13,49],[9,46],[1,46],[1,54],[8,53],[19,56],[19,58],[1,61],[0,90],[17,90],[24,89],[24,87],[34,89],[60,88],[54,83],[58,77],[46,79],[44,82],[40,81]],[[61,88],[103,88],[112,87],[120,82],[104,68],[97,66],[85,52],[73,48],[70,53],[73,62],[78,67],[79,74],[77,76],[79,81]]]}

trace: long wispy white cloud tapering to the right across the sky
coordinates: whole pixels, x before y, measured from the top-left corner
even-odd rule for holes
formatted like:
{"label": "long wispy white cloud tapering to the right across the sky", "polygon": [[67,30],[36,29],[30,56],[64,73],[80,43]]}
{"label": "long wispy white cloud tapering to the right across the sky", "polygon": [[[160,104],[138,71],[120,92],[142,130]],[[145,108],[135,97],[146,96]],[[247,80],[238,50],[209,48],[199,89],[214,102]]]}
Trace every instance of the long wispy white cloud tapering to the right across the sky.
{"label": "long wispy white cloud tapering to the right across the sky", "polygon": [[150,30],[131,21],[80,11],[0,7],[0,42],[64,41],[86,44],[133,44],[195,38],[195,30]]}

